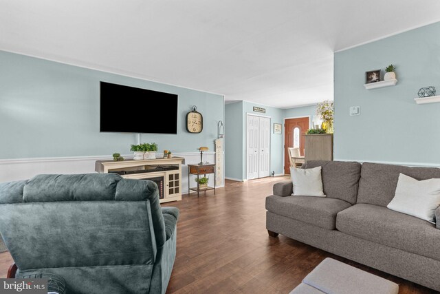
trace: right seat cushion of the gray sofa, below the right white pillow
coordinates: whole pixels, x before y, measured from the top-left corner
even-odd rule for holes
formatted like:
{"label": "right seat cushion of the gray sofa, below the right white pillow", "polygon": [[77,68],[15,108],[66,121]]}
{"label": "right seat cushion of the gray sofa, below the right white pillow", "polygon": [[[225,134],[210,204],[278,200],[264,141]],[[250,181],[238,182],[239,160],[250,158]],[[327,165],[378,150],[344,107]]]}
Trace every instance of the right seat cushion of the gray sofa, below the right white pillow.
{"label": "right seat cushion of the gray sofa, below the right white pillow", "polygon": [[336,229],[364,240],[440,260],[440,230],[426,220],[371,204],[338,213]]}

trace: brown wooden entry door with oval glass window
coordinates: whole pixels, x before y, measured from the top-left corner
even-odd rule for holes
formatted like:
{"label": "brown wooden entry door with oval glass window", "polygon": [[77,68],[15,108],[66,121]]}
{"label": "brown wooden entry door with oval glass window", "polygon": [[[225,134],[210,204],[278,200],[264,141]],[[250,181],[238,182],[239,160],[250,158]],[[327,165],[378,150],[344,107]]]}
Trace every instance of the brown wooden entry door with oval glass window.
{"label": "brown wooden entry door with oval glass window", "polygon": [[289,147],[299,147],[304,156],[305,132],[309,129],[309,118],[289,118],[284,121],[284,173],[290,174]]}

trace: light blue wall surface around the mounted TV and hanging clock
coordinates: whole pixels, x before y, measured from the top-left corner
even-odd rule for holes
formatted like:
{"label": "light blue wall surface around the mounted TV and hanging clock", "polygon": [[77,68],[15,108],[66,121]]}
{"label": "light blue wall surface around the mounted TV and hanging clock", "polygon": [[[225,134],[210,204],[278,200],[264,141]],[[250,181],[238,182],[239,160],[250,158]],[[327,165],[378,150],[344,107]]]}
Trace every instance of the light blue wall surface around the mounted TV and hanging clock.
{"label": "light blue wall surface around the mounted TV and hanging clock", "polygon": [[[9,52],[0,51],[0,80],[0,159],[129,154],[137,135],[99,132],[100,81],[179,95],[177,135],[142,134],[142,142],[158,143],[159,151],[197,152],[200,146],[214,151],[217,122],[223,120],[221,95]],[[203,114],[201,134],[185,129],[192,105]],[[122,99],[115,118],[131,107]],[[145,109],[146,121],[153,111]]]}

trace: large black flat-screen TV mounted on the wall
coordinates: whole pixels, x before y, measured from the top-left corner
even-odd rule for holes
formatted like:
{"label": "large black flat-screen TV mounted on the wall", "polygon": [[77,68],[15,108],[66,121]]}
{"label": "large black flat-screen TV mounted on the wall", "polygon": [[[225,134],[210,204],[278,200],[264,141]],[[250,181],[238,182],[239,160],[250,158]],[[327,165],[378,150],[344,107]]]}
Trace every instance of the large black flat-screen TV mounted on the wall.
{"label": "large black flat-screen TV mounted on the wall", "polygon": [[177,95],[100,83],[100,132],[177,134]]}

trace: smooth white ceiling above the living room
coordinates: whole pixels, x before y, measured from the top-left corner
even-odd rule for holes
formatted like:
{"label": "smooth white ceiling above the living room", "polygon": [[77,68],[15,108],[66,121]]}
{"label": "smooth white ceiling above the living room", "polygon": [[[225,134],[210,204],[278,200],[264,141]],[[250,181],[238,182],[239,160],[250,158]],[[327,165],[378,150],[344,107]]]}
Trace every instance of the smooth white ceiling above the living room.
{"label": "smooth white ceiling above the living room", "polygon": [[0,50],[276,107],[333,99],[333,52],[439,0],[0,0]]}

